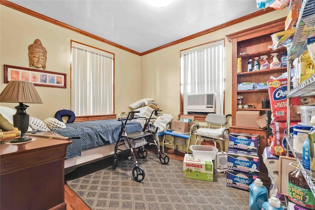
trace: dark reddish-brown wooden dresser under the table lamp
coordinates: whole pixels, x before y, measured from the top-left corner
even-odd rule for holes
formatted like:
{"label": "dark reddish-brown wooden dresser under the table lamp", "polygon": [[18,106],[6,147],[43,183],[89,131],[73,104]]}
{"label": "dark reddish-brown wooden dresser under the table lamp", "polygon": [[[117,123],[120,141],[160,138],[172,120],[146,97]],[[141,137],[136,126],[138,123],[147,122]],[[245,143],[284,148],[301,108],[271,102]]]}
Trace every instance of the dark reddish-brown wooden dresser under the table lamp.
{"label": "dark reddish-brown wooden dresser under the table lamp", "polygon": [[[35,140],[34,140],[35,139]],[[0,209],[65,210],[64,157],[71,140],[0,144]]]}

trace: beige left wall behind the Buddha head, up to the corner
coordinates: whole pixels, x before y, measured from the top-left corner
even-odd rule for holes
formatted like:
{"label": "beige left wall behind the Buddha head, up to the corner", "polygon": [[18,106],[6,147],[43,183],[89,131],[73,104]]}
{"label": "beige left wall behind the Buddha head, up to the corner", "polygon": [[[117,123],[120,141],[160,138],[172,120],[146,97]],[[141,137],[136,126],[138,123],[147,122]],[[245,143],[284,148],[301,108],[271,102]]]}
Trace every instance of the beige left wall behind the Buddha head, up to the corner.
{"label": "beige left wall behind the Buddha head, up to the corner", "polygon": [[[66,73],[67,87],[36,86],[43,104],[28,104],[30,116],[44,120],[58,110],[70,109],[70,40],[76,40],[115,54],[115,112],[141,98],[141,57],[96,41],[79,33],[34,18],[0,5],[0,89],[3,83],[3,64],[29,67],[28,46],[40,39],[47,50],[46,70]],[[42,68],[40,68],[43,70]],[[14,107],[15,103],[1,103]]]}

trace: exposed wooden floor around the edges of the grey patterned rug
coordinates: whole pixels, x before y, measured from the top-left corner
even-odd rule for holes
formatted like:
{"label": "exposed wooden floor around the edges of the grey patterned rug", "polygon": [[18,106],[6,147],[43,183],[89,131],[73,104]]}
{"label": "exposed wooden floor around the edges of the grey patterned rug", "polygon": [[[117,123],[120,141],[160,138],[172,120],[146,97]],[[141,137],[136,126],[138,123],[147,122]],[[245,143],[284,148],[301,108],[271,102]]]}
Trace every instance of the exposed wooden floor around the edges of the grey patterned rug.
{"label": "exposed wooden floor around the edges of the grey patterned rug", "polygon": [[[148,151],[157,152],[157,149],[154,145],[146,145]],[[179,161],[184,160],[185,153],[173,150],[169,148],[164,149],[165,153],[168,154],[170,159],[176,159]],[[112,157],[109,157],[112,158]],[[124,157],[121,157],[124,158]],[[105,160],[105,161],[104,161]],[[73,179],[75,176],[84,176],[87,173],[93,173],[94,171],[100,170],[101,168],[106,168],[110,166],[113,161],[106,161],[106,159],[91,163],[86,166],[79,167],[76,171],[73,171],[65,176],[65,181]],[[84,174],[85,173],[85,174]],[[73,192],[67,184],[64,184],[64,200],[67,204],[67,210],[91,210],[75,192]]]}

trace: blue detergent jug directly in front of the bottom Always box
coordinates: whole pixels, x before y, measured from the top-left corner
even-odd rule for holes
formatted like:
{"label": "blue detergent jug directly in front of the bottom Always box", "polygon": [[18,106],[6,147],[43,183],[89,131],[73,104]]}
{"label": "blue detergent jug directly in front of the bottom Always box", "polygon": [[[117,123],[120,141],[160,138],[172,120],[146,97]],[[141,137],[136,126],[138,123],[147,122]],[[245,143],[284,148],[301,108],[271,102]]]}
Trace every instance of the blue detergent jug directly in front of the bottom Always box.
{"label": "blue detergent jug directly in front of the bottom Always box", "polygon": [[259,178],[250,185],[250,210],[261,210],[264,202],[268,201],[268,190]]}

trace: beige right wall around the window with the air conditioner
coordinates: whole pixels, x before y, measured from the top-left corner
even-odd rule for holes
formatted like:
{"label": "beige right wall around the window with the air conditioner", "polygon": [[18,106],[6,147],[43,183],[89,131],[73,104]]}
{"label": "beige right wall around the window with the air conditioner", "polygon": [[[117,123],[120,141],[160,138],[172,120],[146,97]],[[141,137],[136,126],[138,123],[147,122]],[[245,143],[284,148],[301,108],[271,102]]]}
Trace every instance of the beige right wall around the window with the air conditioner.
{"label": "beige right wall around the window with the air conditioner", "polygon": [[[180,51],[202,43],[225,38],[225,35],[245,30],[287,16],[287,10],[277,10],[263,16],[217,30],[192,40],[142,56],[143,96],[155,98],[158,107],[174,118],[180,111]],[[232,44],[225,38],[225,113],[231,114]]]}

